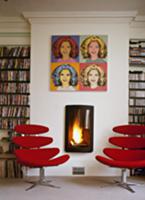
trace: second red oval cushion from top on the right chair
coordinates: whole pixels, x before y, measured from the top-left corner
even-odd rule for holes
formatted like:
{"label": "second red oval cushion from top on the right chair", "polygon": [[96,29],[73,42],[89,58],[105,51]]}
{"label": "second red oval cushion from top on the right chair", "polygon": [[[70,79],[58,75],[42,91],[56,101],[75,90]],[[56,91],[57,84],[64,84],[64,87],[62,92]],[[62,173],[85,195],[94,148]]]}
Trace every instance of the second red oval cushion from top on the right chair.
{"label": "second red oval cushion from top on the right chair", "polygon": [[110,137],[109,142],[113,145],[128,149],[145,148],[145,138],[142,137]]}

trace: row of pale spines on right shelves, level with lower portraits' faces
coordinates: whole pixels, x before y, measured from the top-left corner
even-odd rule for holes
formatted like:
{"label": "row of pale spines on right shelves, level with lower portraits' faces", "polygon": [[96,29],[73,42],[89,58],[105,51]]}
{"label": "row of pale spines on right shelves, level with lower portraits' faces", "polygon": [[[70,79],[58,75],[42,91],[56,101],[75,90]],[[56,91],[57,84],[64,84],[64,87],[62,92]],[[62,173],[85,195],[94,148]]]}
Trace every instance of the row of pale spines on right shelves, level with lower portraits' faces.
{"label": "row of pale spines on right shelves, level with lower portraits' faces", "polygon": [[133,81],[145,81],[145,73],[142,71],[130,71],[129,72],[129,80]]}

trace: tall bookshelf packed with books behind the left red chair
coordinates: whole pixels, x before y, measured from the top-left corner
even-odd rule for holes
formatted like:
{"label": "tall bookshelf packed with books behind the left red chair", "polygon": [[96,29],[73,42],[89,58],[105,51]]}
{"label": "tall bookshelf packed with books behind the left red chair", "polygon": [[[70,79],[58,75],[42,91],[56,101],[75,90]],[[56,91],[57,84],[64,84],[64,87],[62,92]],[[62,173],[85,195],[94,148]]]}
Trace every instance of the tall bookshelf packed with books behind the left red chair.
{"label": "tall bookshelf packed with books behind the left red chair", "polygon": [[0,177],[20,177],[11,137],[14,127],[30,118],[29,45],[0,46],[0,82]]}

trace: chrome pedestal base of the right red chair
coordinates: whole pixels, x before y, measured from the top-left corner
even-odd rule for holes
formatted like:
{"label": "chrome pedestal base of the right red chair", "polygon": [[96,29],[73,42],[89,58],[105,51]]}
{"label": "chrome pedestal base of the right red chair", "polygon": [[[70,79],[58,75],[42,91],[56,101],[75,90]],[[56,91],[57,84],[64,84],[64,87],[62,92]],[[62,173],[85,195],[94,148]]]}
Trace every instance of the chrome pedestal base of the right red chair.
{"label": "chrome pedestal base of the right red chair", "polygon": [[135,185],[135,184],[127,183],[127,170],[122,169],[121,173],[122,173],[121,181],[115,181],[115,183],[117,183],[118,186],[123,187],[123,188],[127,189],[128,191],[134,193],[135,191],[130,186]]}

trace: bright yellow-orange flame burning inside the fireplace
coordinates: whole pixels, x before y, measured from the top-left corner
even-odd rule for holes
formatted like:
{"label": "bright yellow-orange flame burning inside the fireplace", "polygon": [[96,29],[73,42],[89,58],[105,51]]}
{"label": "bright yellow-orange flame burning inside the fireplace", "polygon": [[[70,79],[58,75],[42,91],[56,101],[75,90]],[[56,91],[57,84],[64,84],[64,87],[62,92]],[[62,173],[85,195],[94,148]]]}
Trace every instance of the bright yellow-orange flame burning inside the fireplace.
{"label": "bright yellow-orange flame burning inside the fireplace", "polygon": [[72,144],[80,144],[83,142],[82,128],[79,127],[79,122],[76,121],[73,126]]}

